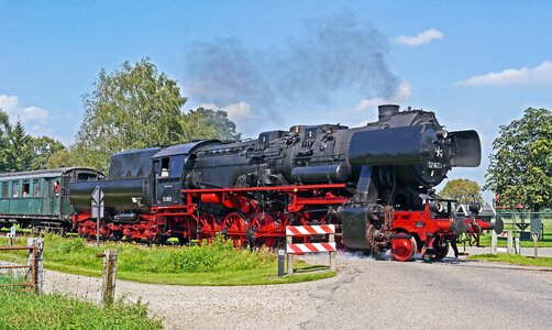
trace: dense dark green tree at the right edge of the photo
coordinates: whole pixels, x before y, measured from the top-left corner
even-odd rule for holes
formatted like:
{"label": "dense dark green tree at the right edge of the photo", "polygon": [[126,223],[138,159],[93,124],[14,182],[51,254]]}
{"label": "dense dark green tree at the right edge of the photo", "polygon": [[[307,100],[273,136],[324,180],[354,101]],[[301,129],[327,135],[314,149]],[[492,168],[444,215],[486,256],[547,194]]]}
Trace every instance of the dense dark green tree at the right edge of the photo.
{"label": "dense dark green tree at the right edge of the photo", "polygon": [[499,206],[525,205],[539,211],[552,207],[552,114],[528,108],[523,118],[500,127],[485,174],[485,189]]}

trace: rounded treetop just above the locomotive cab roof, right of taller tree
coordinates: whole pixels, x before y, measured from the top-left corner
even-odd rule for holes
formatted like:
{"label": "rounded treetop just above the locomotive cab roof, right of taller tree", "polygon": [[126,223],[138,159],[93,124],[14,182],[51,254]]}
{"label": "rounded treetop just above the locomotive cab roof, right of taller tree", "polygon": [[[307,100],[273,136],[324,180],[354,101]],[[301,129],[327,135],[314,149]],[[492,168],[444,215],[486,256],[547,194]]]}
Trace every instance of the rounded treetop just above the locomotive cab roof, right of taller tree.
{"label": "rounded treetop just above the locomotive cab roof, right of taller tree", "polygon": [[187,140],[240,140],[241,136],[235,132],[235,123],[222,110],[201,107],[190,110],[183,120],[183,127]]}

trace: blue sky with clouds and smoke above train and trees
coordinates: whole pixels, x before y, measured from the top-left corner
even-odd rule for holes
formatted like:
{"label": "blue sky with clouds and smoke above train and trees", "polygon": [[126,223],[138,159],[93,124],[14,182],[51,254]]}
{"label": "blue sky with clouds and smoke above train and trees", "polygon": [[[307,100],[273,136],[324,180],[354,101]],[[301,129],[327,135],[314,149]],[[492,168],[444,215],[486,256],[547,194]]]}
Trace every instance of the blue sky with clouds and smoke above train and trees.
{"label": "blue sky with clouds and smoke above train and trees", "polygon": [[[552,108],[551,13],[548,1],[0,0],[0,107],[30,133],[70,144],[99,70],[148,56],[178,80],[184,110],[227,109],[245,136],[357,125],[378,102],[435,111],[451,131],[479,132],[482,166],[451,177],[483,184],[498,127],[527,107]],[[209,70],[213,61],[224,68],[225,54],[231,80]],[[312,59],[324,72],[336,64],[334,76],[316,82]],[[352,77],[364,59],[386,72],[372,65]]]}

